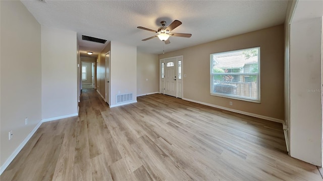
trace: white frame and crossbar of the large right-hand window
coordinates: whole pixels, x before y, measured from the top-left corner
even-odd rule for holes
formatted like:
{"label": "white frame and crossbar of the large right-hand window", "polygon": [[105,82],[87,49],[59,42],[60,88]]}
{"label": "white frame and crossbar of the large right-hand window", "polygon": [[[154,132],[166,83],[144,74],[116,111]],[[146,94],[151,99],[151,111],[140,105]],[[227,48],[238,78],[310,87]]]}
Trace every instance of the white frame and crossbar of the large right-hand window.
{"label": "white frame and crossbar of the large right-hand window", "polygon": [[[250,50],[258,48],[258,73],[230,73],[231,75],[257,75],[257,98],[248,98],[248,97],[242,97],[242,96],[236,96],[231,94],[223,94],[223,93],[214,93],[213,92],[213,75],[217,74],[223,74],[223,73],[213,73],[213,55],[214,54],[224,54],[224,53],[231,53],[231,52],[237,52],[237,51],[244,51],[244,50]],[[228,73],[226,73],[228,74]],[[247,102],[253,102],[253,103],[260,103],[260,47],[252,47],[252,48],[244,48],[244,49],[237,49],[237,50],[230,50],[230,51],[224,51],[224,52],[217,52],[217,53],[211,53],[210,54],[210,95],[211,96],[218,96],[223,98],[229,98],[229,99],[235,99],[235,100],[241,100],[241,101],[247,101]]]}

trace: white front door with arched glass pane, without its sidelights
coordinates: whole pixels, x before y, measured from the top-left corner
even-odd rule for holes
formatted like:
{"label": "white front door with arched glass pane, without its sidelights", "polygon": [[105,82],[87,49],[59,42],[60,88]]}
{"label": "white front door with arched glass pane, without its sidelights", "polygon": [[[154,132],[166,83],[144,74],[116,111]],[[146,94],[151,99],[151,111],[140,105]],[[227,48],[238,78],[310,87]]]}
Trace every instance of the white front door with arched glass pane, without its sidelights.
{"label": "white front door with arched glass pane, without its sidelights", "polygon": [[177,85],[176,85],[176,70],[177,70],[177,62],[175,59],[167,59],[165,60],[165,94],[169,96],[176,97],[177,94]]}

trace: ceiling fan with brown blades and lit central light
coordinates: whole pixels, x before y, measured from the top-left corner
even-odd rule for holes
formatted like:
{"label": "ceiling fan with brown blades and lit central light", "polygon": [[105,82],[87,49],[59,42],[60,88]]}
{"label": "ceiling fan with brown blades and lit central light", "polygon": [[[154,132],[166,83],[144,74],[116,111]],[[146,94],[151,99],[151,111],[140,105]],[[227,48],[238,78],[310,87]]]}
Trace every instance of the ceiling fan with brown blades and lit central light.
{"label": "ceiling fan with brown blades and lit central light", "polygon": [[146,41],[146,40],[150,40],[152,38],[158,37],[159,40],[164,41],[165,44],[170,44],[171,42],[168,39],[170,36],[186,37],[186,38],[189,38],[192,36],[192,34],[188,34],[188,33],[172,33],[171,32],[172,30],[174,30],[175,28],[177,28],[178,26],[180,26],[182,24],[182,22],[180,22],[178,20],[173,21],[173,23],[171,23],[170,26],[168,26],[168,27],[165,27],[166,21],[161,21],[160,24],[162,27],[158,28],[157,31],[151,30],[149,28],[137,27],[139,29],[158,33],[158,35],[143,39],[142,41]]}

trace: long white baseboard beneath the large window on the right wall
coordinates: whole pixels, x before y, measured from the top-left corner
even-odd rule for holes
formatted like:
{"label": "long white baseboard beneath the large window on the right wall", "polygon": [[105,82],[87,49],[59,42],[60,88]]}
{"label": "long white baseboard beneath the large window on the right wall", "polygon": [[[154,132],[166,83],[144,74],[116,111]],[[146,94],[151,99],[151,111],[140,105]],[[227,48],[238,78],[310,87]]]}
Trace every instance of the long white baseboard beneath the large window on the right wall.
{"label": "long white baseboard beneath the large window on the right wall", "polygon": [[212,104],[208,104],[208,103],[203,103],[203,102],[199,102],[199,101],[194,101],[194,100],[190,100],[190,99],[186,99],[186,98],[183,98],[183,100],[193,102],[193,103],[202,104],[202,105],[206,105],[206,106],[210,106],[210,107],[213,107],[213,108],[219,108],[219,109],[226,110],[226,111],[231,111],[231,112],[234,112],[234,113],[239,113],[239,114],[243,114],[243,115],[247,115],[247,116],[252,116],[252,117],[255,117],[255,118],[260,118],[260,119],[264,119],[264,120],[268,120],[268,121],[274,121],[274,122],[277,122],[277,123],[284,124],[284,120],[280,120],[280,119],[277,119],[277,118],[271,118],[271,117],[262,116],[262,115],[258,115],[258,114],[248,113],[248,112],[244,112],[244,111],[240,111],[240,110],[230,109],[230,108],[217,106],[217,105],[212,105]]}

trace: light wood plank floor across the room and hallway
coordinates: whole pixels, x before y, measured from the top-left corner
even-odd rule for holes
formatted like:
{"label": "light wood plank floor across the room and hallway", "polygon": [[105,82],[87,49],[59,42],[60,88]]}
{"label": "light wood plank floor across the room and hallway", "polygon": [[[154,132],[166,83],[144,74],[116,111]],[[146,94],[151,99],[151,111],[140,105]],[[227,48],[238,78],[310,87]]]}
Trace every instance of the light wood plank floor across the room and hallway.
{"label": "light wood plank floor across the room and hallway", "polygon": [[3,180],[322,180],[287,155],[282,125],[154,94],[43,123]]}

